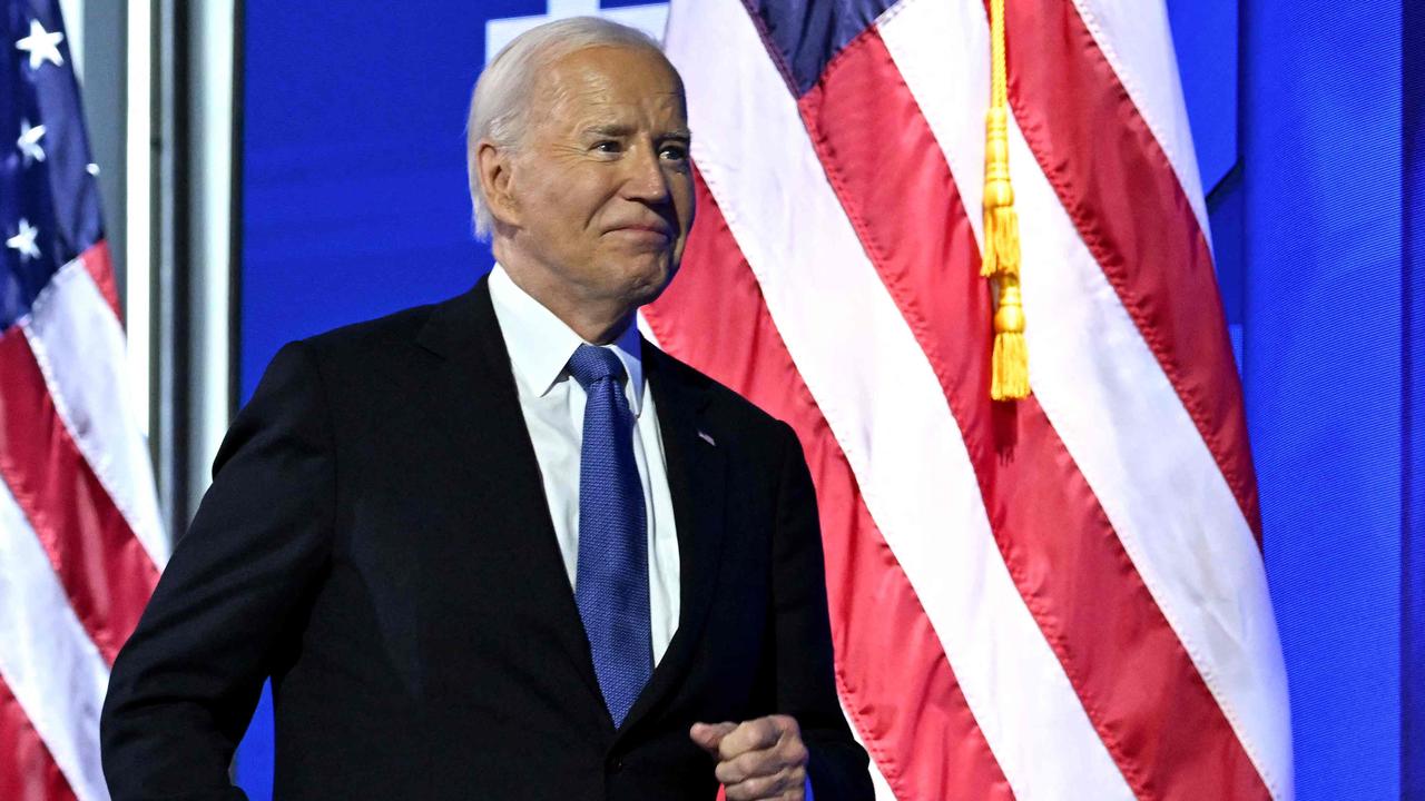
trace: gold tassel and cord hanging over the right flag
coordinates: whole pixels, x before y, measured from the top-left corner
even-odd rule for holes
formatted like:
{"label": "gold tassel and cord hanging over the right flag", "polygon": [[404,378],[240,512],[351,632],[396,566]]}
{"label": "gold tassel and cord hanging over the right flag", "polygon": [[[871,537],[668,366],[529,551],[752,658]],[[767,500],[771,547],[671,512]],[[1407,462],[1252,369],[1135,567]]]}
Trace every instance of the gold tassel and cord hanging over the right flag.
{"label": "gold tassel and cord hanging over the right flag", "polygon": [[995,352],[989,396],[1029,396],[1029,348],[1019,296],[1019,215],[1009,182],[1009,78],[1005,67],[1005,0],[990,0],[990,105],[985,115],[985,258],[980,275],[996,279]]}

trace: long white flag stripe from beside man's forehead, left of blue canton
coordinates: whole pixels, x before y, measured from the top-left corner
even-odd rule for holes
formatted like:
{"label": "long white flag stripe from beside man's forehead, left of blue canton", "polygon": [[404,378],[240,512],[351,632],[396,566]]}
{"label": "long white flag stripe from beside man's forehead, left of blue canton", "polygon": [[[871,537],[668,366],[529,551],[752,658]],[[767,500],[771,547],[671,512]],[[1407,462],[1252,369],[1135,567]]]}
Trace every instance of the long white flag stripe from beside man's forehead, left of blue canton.
{"label": "long white flag stripe from beside man's forehead, left of blue canton", "polygon": [[1009,577],[942,388],[747,10],[674,3],[668,31],[694,161],[1015,792],[1131,798]]}

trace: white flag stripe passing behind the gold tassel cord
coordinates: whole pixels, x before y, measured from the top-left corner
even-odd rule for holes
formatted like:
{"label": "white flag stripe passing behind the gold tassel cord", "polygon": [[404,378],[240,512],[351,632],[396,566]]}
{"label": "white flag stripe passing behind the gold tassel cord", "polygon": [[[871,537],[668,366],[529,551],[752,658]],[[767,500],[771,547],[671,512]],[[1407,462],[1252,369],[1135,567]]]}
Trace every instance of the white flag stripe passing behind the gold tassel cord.
{"label": "white flag stripe passing behind the gold tassel cord", "polygon": [[[982,187],[963,171],[983,164],[988,24],[979,0],[908,3],[881,24],[972,210]],[[932,46],[950,40],[968,46]],[[1013,120],[1010,174],[1035,395],[1253,764],[1290,797],[1285,674],[1247,520]]]}

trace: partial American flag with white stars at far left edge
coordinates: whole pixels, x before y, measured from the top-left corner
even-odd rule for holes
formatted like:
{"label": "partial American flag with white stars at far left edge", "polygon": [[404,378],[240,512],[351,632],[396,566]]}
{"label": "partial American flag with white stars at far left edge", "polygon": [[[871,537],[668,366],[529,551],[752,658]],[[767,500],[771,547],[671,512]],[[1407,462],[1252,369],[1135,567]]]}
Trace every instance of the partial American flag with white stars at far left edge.
{"label": "partial American flag with white stars at far left edge", "polygon": [[0,798],[108,798],[98,714],[168,557],[54,0],[0,17]]}

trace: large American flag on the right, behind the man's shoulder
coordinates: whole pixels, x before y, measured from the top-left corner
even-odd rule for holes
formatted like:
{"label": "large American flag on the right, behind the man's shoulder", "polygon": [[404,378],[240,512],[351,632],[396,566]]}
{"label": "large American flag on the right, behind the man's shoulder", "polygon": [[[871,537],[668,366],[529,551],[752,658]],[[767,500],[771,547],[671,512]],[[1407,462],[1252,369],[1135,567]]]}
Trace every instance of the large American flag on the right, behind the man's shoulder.
{"label": "large American flag on the right, behind the man's shoulder", "polygon": [[1166,9],[1009,0],[1032,395],[990,400],[983,0],[683,0],[698,217],[644,314],[794,425],[884,797],[1292,795]]}

